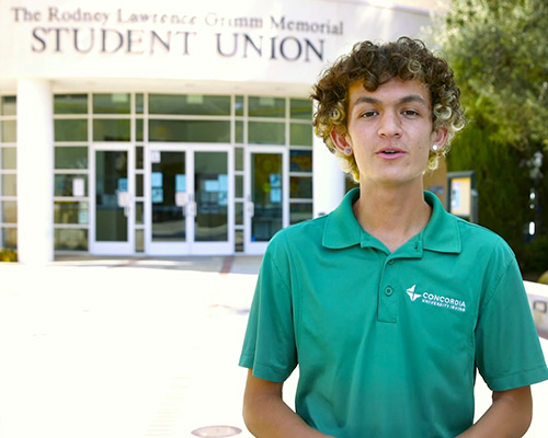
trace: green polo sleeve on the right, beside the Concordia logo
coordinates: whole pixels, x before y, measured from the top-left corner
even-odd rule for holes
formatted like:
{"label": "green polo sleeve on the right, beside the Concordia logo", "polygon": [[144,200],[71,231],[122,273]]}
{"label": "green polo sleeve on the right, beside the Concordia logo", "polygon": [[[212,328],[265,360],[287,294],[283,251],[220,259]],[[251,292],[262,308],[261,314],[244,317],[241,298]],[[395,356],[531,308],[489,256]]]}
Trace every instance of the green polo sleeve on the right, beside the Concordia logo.
{"label": "green polo sleeve on the right, beside the Concordia logo", "polygon": [[504,258],[498,261],[499,274],[493,276],[476,327],[476,364],[493,391],[548,379],[517,263],[513,254]]}

